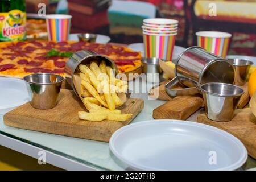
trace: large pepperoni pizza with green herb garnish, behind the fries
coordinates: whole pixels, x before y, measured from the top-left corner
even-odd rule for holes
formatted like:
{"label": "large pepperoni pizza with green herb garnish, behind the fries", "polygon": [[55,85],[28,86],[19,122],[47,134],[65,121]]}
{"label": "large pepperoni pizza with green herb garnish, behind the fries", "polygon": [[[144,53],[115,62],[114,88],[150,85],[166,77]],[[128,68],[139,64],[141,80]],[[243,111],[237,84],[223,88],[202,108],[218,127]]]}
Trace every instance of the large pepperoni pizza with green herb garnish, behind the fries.
{"label": "large pepperoni pizza with green herb garnish, behind the fries", "polygon": [[141,53],[123,46],[88,42],[24,41],[0,43],[0,76],[23,78],[31,73],[65,76],[68,57],[80,50],[94,51],[112,59],[119,73],[141,67]]}

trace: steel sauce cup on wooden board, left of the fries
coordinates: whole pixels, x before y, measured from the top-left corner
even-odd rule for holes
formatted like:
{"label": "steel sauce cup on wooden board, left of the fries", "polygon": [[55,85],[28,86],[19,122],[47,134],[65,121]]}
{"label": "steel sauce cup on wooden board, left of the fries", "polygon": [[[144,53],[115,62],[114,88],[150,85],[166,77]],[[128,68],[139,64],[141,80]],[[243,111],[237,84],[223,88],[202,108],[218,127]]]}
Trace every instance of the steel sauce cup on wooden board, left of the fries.
{"label": "steel sauce cup on wooden board, left of the fries", "polygon": [[53,73],[35,73],[23,78],[26,82],[30,103],[36,109],[52,109],[57,104],[63,76]]}

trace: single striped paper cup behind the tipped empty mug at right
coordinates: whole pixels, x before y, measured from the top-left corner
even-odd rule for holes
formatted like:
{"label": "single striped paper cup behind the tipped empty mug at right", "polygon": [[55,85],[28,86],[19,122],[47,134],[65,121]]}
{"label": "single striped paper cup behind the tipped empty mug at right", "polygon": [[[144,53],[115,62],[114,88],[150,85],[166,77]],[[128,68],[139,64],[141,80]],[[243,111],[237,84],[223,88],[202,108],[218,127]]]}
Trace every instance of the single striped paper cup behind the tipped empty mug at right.
{"label": "single striped paper cup behind the tipped empty mug at right", "polygon": [[226,57],[231,34],[217,31],[196,32],[197,46],[205,48],[207,51],[217,56]]}

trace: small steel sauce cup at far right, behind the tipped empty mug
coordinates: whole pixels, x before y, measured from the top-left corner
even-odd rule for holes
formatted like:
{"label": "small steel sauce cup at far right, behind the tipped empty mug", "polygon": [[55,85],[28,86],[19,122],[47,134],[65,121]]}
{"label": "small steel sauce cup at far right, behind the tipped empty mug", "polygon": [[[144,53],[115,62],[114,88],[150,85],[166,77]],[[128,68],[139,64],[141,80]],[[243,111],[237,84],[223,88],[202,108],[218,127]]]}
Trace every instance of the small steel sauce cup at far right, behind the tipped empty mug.
{"label": "small steel sauce cup at far right, behind the tipped empty mug", "polygon": [[245,60],[245,59],[228,59],[230,63],[233,64],[234,69],[236,71],[236,80],[235,84],[238,86],[245,85],[247,73],[253,65],[252,61]]}

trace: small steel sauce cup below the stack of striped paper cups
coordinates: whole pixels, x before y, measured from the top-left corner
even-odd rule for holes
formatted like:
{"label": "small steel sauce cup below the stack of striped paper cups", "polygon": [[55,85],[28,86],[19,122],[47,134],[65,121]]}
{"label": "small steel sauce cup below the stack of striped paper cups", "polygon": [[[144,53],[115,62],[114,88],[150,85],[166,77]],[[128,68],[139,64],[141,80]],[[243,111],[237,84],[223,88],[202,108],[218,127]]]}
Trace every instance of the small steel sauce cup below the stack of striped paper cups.
{"label": "small steel sauce cup below the stack of striped paper cups", "polygon": [[146,73],[148,82],[155,83],[163,80],[163,71],[159,65],[159,58],[144,58],[141,61],[143,63],[143,73]]}

